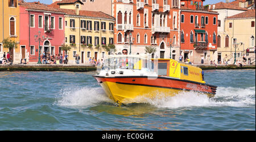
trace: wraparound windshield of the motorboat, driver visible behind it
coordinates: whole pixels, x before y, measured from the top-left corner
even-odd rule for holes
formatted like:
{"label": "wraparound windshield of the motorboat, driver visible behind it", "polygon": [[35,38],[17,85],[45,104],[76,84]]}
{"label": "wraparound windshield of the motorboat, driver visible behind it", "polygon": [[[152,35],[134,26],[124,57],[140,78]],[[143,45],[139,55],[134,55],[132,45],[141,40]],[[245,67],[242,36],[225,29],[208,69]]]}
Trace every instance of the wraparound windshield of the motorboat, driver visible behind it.
{"label": "wraparound windshield of the motorboat, driver visible behind it", "polygon": [[105,69],[133,69],[154,72],[154,64],[151,60],[141,57],[119,56],[106,59],[102,66],[102,70]]}

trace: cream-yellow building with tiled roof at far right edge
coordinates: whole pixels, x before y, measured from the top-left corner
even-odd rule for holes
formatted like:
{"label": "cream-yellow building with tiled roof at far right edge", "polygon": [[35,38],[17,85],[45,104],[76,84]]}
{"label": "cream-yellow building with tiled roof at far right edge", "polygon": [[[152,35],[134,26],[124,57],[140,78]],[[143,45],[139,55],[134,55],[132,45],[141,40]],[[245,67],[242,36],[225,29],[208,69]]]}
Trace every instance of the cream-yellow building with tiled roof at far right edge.
{"label": "cream-yellow building with tiled roof at far right edge", "polygon": [[235,53],[240,60],[247,48],[255,47],[255,9],[229,16],[224,24],[224,34],[217,36],[218,57],[233,64]]}

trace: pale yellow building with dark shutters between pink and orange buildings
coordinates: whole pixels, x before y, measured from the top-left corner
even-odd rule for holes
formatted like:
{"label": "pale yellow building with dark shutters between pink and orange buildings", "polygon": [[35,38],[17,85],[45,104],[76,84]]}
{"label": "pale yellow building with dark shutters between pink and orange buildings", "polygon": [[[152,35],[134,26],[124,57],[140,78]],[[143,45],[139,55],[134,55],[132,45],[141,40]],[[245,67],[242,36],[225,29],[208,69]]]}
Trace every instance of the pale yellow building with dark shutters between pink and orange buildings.
{"label": "pale yellow building with dark shutters between pink and orange buildings", "polygon": [[68,64],[75,64],[76,54],[80,63],[88,63],[89,58],[101,60],[108,55],[104,45],[114,44],[115,19],[104,12],[80,10],[81,1],[60,1],[52,3],[65,12],[65,44]]}

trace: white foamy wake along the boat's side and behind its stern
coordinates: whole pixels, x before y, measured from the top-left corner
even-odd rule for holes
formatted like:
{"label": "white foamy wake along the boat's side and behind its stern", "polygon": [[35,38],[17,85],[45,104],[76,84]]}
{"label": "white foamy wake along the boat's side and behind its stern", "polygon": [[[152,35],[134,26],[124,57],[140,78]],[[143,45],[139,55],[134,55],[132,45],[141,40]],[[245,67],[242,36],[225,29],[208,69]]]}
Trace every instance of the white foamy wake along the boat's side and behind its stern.
{"label": "white foamy wake along the boat's side and behind its stern", "polygon": [[159,108],[250,107],[255,106],[255,87],[247,87],[245,89],[218,87],[213,98],[208,98],[207,95],[194,91],[182,91],[174,97],[158,94],[155,98],[137,98],[137,101],[147,102]]}

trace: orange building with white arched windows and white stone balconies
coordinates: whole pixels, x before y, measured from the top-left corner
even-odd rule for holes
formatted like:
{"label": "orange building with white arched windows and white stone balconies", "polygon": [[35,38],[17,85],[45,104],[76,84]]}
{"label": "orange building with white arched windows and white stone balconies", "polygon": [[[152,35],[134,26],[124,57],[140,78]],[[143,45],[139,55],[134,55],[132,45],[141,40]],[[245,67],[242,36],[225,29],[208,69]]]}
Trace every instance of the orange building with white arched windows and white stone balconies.
{"label": "orange building with white arched windows and white stone balconies", "polygon": [[127,49],[131,54],[144,54],[146,47],[154,47],[152,57],[169,59],[171,47],[172,57],[177,59],[179,4],[177,0],[114,0],[117,53]]}

